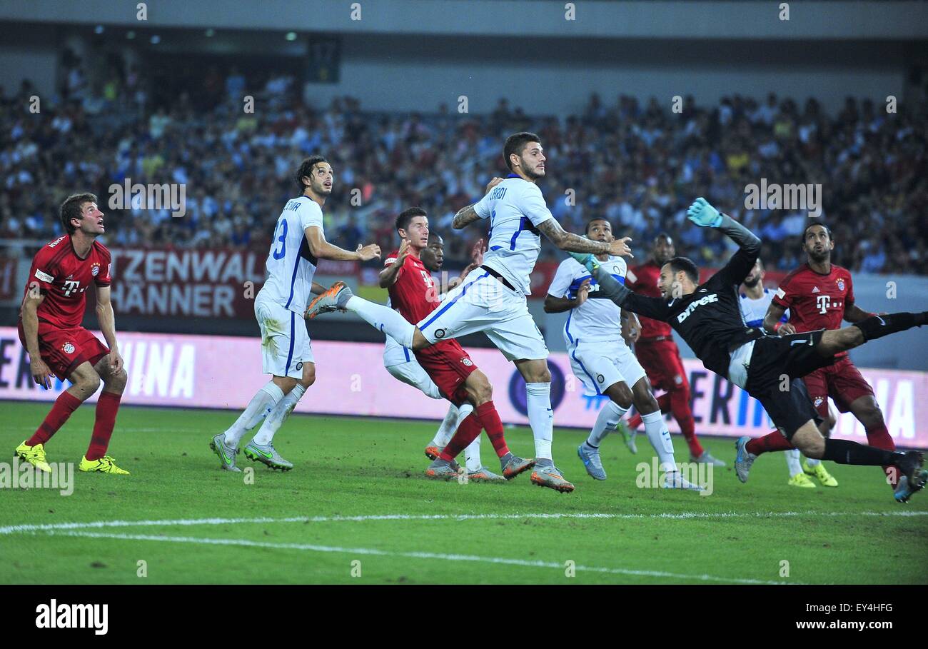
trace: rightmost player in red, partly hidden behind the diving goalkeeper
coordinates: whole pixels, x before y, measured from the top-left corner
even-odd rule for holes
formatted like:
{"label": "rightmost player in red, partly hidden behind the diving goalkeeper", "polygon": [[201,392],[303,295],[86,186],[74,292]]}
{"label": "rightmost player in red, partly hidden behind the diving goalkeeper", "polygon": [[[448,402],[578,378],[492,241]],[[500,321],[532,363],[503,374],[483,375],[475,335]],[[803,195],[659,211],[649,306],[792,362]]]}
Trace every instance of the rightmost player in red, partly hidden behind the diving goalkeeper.
{"label": "rightmost player in red, partly hidden behind the diving goalkeeper", "polygon": [[[819,329],[841,329],[842,319],[853,323],[874,315],[855,303],[851,273],[831,263],[833,249],[834,240],[831,239],[828,227],[820,223],[806,227],[803,233],[806,264],[793,270],[780,282],[780,290],[774,295],[764,318],[767,331],[788,335]],[[790,310],[790,319],[782,323],[780,318],[786,309]],[[815,370],[804,379],[818,414],[823,419],[828,418],[828,397],[831,396],[839,410],[854,413],[857,421],[863,424],[871,447],[896,450],[870,383],[860,375],[847,352],[835,356],[838,360],[833,365]],[[779,435],[779,438],[775,437],[779,446],[782,435],[777,431],[774,434]],[[767,437],[749,442],[748,451],[757,454],[758,451],[768,450],[765,441]],[[896,488],[896,468],[883,467],[883,471],[890,484]]]}

